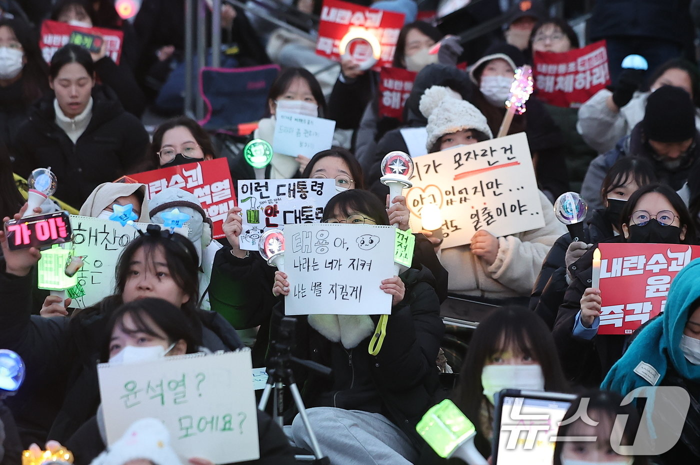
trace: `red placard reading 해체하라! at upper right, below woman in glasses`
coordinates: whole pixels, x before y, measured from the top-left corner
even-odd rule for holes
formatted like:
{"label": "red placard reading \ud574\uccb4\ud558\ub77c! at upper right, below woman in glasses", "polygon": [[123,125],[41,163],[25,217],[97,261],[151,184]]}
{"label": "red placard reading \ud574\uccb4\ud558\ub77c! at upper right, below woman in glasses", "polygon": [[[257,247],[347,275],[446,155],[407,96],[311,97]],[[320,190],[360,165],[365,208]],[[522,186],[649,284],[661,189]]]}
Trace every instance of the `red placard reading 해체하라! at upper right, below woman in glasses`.
{"label": "red placard reading \ud574\uccb4\ud558\ub77c! at upper right, below woman in glasses", "polygon": [[554,106],[577,107],[610,84],[605,41],[564,53],[535,52],[537,97]]}

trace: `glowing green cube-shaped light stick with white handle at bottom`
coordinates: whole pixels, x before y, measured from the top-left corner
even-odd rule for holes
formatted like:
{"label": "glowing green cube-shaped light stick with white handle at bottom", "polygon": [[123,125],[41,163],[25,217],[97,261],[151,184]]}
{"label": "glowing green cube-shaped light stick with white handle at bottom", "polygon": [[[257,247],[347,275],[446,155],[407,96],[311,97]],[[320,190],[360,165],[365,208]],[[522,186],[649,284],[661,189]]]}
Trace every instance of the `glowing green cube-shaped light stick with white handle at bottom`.
{"label": "glowing green cube-shaped light stick with white handle at bottom", "polygon": [[449,399],[431,407],[416,424],[416,431],[443,459],[456,457],[469,465],[488,464],[474,445],[474,424]]}

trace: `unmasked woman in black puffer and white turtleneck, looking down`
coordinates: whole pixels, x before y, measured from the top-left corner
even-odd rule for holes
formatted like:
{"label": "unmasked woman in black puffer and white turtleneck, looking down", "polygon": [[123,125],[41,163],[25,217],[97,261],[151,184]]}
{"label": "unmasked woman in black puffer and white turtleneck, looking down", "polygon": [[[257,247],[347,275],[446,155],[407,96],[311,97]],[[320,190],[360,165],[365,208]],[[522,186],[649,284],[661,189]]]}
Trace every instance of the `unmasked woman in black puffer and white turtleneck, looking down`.
{"label": "unmasked woman in black puffer and white turtleneck, looking down", "polygon": [[109,88],[95,85],[94,62],[85,48],[59,49],[48,83],[53,92],[34,105],[18,130],[14,168],[27,178],[37,167],[51,167],[58,178],[56,197],[79,207],[99,184],[137,172],[148,133]]}

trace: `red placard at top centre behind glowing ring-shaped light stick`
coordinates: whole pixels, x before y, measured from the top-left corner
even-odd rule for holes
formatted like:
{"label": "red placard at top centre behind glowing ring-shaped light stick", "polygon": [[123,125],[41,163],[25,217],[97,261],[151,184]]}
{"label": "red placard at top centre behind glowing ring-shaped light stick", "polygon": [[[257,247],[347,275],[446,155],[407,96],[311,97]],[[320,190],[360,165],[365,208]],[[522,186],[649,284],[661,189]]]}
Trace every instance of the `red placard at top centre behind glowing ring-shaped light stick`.
{"label": "red placard at top centre behind glowing ring-shaped light stick", "polygon": [[[402,13],[374,10],[365,6],[349,4],[340,0],[324,0],[321,9],[321,23],[318,25],[316,54],[331,60],[340,61],[338,51],[340,41],[346,34],[356,35],[369,32],[379,41],[380,58],[372,69],[390,67],[398,41],[398,33],[403,27]],[[367,43],[356,46],[355,55],[364,57],[371,54]]]}

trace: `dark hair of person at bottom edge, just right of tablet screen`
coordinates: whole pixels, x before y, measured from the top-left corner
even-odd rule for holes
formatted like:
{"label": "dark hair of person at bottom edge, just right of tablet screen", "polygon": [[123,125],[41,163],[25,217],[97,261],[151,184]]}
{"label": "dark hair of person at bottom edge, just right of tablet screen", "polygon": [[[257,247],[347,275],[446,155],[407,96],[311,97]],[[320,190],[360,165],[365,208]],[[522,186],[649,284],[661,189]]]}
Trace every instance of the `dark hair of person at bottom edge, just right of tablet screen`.
{"label": "dark hair of person at bottom edge, just right of tablet screen", "polygon": [[[588,399],[587,405],[584,404],[583,399]],[[605,428],[610,425],[610,431],[612,431],[612,425],[615,424],[615,419],[620,415],[626,415],[627,419],[624,423],[621,445],[633,443],[639,426],[639,414],[636,408],[633,407],[632,403],[622,405],[622,396],[617,394],[617,392],[599,391],[598,389],[584,391],[579,398],[573,401],[563,417],[563,420],[570,419],[572,421],[562,424],[559,427],[559,431],[556,432],[556,436],[560,438],[569,435],[580,436],[572,434],[569,431],[572,429],[573,425],[584,422],[584,419],[582,419],[578,413],[579,408],[582,406],[585,408],[585,412],[589,418],[594,422],[598,422],[599,428]],[[596,437],[597,436],[600,436],[600,434],[596,434]],[[554,465],[561,465],[561,451],[565,443],[566,441],[563,440],[557,440],[556,443],[554,443]],[[608,444],[609,443],[610,438],[608,437]],[[646,457],[635,457],[632,465],[646,465],[647,463]]]}

